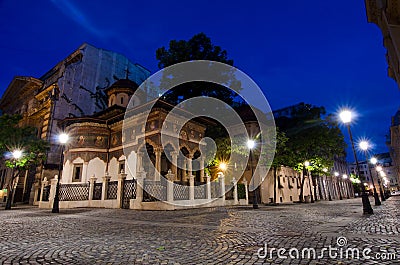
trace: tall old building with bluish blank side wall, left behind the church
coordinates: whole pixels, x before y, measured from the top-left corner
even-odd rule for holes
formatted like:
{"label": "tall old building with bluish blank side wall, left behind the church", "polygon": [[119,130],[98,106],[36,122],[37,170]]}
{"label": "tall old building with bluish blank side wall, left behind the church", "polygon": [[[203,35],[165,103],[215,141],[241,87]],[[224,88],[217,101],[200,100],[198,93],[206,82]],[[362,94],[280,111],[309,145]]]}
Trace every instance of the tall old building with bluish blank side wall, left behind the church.
{"label": "tall old building with bluish blank side wall, left behind the church", "polygon": [[[36,183],[33,190],[38,194],[40,180],[57,174],[60,150],[55,136],[60,131],[61,120],[106,109],[105,89],[112,83],[129,78],[141,84],[149,75],[146,68],[130,62],[124,55],[84,43],[39,78],[14,77],[0,100],[0,109],[5,114],[21,114],[21,125],[35,127],[38,137],[51,143],[45,164],[27,179],[19,180],[15,201],[33,201],[34,193],[29,194],[32,185]],[[5,179],[6,170],[0,168],[0,172]]]}

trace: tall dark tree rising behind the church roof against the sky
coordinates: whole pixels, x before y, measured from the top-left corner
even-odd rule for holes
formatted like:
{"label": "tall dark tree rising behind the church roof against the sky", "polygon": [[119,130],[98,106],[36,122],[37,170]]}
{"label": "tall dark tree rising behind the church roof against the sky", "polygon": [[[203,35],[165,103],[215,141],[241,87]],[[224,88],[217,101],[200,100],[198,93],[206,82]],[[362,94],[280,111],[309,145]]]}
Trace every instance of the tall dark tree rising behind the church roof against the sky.
{"label": "tall dark tree rising behind the church roof against the sky", "polygon": [[[233,65],[233,60],[228,59],[227,51],[223,50],[220,46],[214,45],[211,39],[204,33],[196,34],[188,41],[171,40],[168,49],[161,47],[156,50],[156,59],[158,60],[158,67],[160,69],[194,60],[209,60]],[[218,74],[220,74],[221,81],[229,84],[230,88],[240,91],[241,85],[235,78],[234,71]],[[168,84],[173,78],[174,76],[171,76],[167,70],[164,70],[161,87],[169,87]],[[163,98],[172,104],[177,104],[183,100],[199,96],[214,97],[232,105],[237,94],[219,84],[196,81],[174,87],[163,95]]]}

